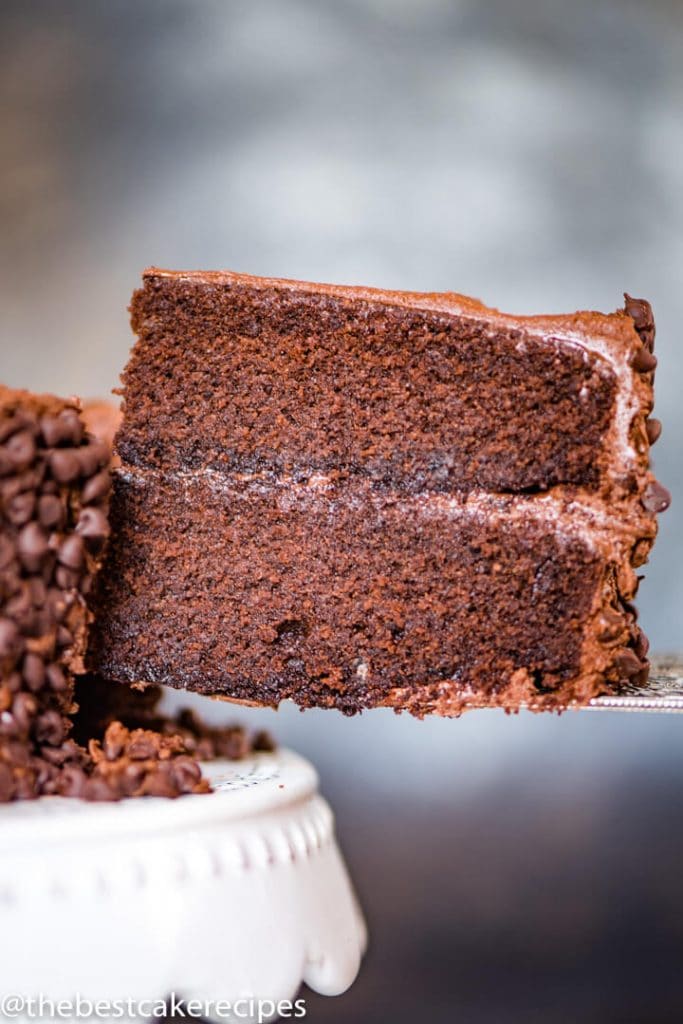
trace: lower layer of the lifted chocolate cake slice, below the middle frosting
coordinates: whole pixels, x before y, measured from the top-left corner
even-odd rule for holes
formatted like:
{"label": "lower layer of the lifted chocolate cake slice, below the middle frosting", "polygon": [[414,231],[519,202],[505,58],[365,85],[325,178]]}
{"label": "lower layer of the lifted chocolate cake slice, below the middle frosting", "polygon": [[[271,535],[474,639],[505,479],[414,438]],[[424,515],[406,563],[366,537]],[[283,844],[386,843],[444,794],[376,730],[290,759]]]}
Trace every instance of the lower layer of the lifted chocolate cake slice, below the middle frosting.
{"label": "lower layer of the lifted chocolate cake slice, below the middle frosting", "polygon": [[109,678],[457,714],[646,675],[634,524],[570,495],[125,469],[112,523],[89,654]]}

